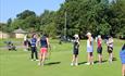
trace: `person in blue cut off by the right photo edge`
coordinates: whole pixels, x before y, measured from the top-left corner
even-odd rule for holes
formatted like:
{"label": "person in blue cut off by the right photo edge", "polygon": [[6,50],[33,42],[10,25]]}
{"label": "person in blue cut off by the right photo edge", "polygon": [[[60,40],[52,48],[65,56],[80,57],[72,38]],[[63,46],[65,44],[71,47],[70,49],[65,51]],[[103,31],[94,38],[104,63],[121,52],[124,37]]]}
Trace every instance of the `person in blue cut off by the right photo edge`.
{"label": "person in blue cut off by the right photo edge", "polygon": [[122,76],[125,76],[125,43],[120,52],[121,61],[122,61]]}

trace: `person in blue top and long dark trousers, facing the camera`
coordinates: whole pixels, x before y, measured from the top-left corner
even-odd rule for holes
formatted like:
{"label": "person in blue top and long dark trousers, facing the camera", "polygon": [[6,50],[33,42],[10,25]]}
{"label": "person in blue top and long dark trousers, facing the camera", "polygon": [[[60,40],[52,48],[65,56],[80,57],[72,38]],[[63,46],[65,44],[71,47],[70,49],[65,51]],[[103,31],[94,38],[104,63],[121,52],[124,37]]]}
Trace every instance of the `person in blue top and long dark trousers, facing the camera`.
{"label": "person in blue top and long dark trousers, facing the camera", "polygon": [[[33,34],[33,36],[32,36],[30,49],[32,49],[32,61],[38,61],[38,55],[37,55],[37,36],[36,36],[36,34]],[[36,60],[34,60],[34,55],[36,56]]]}

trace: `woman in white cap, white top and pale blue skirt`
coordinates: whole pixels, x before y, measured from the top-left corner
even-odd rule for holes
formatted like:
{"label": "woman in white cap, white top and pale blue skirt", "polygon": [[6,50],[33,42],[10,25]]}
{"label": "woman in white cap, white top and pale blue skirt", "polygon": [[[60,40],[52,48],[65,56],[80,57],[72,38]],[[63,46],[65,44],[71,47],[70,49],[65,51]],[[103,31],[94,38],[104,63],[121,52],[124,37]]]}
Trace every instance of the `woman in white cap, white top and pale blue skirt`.
{"label": "woman in white cap, white top and pale blue skirt", "polygon": [[93,38],[90,33],[87,33],[87,52],[88,52],[88,62],[87,65],[93,64]]}

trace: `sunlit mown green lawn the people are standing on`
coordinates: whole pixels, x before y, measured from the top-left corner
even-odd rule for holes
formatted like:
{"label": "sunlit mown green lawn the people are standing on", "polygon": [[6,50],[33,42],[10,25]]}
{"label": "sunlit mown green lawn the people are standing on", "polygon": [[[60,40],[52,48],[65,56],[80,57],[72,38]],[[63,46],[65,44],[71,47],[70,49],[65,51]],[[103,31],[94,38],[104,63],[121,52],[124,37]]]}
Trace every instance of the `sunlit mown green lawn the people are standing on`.
{"label": "sunlit mown green lawn the people are standing on", "polygon": [[[59,45],[58,40],[51,40],[51,55],[46,65],[38,66],[38,61],[30,61],[30,51],[0,50],[0,76],[121,76],[121,60],[118,56],[125,40],[114,41],[114,58],[112,64],[108,62],[108,52],[103,43],[103,63],[86,65],[86,40],[80,41],[79,65],[71,66],[72,43]],[[98,60],[95,43],[95,62]]]}

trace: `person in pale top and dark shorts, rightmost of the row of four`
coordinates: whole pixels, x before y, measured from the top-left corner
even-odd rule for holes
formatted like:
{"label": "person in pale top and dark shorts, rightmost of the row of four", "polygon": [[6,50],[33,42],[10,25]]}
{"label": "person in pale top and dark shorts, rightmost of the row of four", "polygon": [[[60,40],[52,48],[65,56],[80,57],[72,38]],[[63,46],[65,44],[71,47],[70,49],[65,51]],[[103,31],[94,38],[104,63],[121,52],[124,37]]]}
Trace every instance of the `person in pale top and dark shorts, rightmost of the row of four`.
{"label": "person in pale top and dark shorts, rightmost of the row of four", "polygon": [[113,38],[110,36],[108,39],[108,53],[109,53],[109,62],[112,63],[113,61]]}

